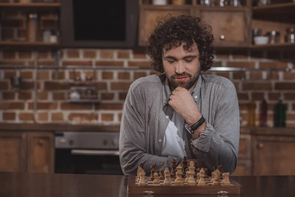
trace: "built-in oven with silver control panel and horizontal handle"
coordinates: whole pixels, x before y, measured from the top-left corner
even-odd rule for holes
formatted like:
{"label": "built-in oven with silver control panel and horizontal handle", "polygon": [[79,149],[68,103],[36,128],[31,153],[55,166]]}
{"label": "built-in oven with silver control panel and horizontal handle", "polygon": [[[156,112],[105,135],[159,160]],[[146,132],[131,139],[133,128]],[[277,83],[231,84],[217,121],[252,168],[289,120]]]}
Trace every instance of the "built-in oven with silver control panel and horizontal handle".
{"label": "built-in oven with silver control panel and horizontal handle", "polygon": [[123,175],[119,132],[57,131],[55,173]]}

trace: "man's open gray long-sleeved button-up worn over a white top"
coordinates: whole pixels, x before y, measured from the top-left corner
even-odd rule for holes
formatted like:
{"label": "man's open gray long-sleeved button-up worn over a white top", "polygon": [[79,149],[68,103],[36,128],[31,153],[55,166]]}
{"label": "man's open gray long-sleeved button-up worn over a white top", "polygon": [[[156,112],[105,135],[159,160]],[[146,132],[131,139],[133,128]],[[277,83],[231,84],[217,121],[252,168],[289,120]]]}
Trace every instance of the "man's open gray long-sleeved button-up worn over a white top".
{"label": "man's open gray long-sleeved button-up worn over a white top", "polygon": [[[174,111],[168,104],[170,94],[165,74],[142,77],[131,84],[119,137],[119,158],[125,175],[136,175],[140,164],[149,174],[153,163],[162,169],[170,167],[173,159],[177,164],[183,159],[161,157],[164,134]],[[188,159],[197,158],[211,171],[222,164],[224,172],[233,173],[239,148],[239,107],[234,84],[227,78],[201,73],[191,94],[207,127],[196,140],[188,134]]]}

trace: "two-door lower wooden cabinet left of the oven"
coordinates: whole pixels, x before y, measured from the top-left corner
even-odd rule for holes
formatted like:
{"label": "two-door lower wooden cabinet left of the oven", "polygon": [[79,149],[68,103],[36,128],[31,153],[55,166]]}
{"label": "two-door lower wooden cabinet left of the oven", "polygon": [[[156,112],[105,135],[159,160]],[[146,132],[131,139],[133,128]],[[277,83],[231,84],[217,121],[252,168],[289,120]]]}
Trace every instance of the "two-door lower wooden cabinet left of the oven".
{"label": "two-door lower wooden cabinet left of the oven", "polygon": [[54,172],[54,134],[0,131],[0,171]]}

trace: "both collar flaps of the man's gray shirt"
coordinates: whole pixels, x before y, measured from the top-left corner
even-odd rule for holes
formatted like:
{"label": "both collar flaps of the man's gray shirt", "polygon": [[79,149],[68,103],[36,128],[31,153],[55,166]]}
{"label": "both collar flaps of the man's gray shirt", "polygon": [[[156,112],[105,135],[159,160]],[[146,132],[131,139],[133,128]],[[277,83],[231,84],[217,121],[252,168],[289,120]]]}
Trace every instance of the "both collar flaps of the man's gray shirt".
{"label": "both collar flaps of the man's gray shirt", "polygon": [[[201,86],[202,86],[202,73],[200,73],[200,75],[199,75],[196,86],[190,92],[190,94],[192,95],[195,102],[197,102],[198,99],[200,98]],[[171,95],[171,90],[170,90],[168,78],[166,77],[165,81],[164,81],[163,96],[162,96],[163,106],[168,104],[170,95]]]}

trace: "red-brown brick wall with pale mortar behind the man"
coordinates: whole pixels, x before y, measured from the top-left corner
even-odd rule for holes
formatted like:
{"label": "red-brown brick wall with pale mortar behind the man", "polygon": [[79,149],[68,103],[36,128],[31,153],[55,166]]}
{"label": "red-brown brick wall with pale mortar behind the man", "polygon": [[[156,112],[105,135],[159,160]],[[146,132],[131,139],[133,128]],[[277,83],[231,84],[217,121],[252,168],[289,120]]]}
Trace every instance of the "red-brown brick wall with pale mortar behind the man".
{"label": "red-brown brick wall with pale mortar behind the man", "polygon": [[[263,55],[263,53],[261,54]],[[2,51],[0,64],[30,65],[33,56],[28,52]],[[272,61],[249,55],[235,55],[223,53],[215,55],[213,66],[255,67],[255,68],[293,68],[292,63]],[[54,57],[50,52],[38,53],[38,64],[53,65]],[[149,59],[144,51],[133,50],[67,50],[61,52],[60,65],[78,66],[149,66]],[[72,70],[60,70],[55,78],[55,70],[38,71],[38,102],[36,121],[39,123],[83,123],[83,124],[119,124],[122,106],[129,85],[139,77],[155,74],[151,69],[144,70],[97,70],[96,87],[98,97],[102,99],[98,104],[75,104],[65,101],[66,92],[74,82]],[[256,102],[257,125],[259,120],[260,103],[263,98],[269,104],[268,125],[272,126],[272,110],[278,99],[283,99],[288,107],[287,125],[295,126],[295,72],[251,71],[245,73],[228,71],[207,71],[232,80],[241,109],[242,124],[247,124],[247,104],[251,99]],[[205,73],[205,74],[206,74]],[[82,80],[93,75],[93,70],[76,70]],[[20,75],[24,82],[20,90],[13,89],[9,78]],[[0,121],[1,122],[29,122],[34,120],[34,70],[1,70],[0,71]]]}

